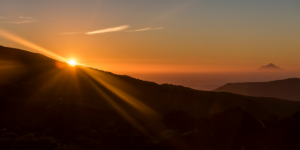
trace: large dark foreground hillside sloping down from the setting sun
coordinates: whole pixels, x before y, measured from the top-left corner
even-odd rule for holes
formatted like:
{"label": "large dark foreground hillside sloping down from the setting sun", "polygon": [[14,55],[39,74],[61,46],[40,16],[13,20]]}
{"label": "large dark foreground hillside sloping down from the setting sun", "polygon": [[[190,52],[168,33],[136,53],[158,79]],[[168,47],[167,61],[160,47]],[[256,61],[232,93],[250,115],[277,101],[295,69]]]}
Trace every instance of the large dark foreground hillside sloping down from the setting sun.
{"label": "large dark foreground hillside sloping down from the setting sun", "polygon": [[0,65],[1,149],[300,148],[299,102],[159,85],[6,47]]}

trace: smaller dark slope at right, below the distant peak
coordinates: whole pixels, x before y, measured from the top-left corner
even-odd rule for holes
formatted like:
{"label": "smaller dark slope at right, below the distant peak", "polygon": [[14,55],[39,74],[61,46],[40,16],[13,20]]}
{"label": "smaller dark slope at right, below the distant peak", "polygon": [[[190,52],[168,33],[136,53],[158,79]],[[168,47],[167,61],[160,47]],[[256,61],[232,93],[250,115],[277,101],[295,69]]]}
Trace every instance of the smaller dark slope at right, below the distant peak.
{"label": "smaller dark slope at right, below the distant peak", "polygon": [[271,82],[228,83],[214,91],[300,101],[300,79],[292,78]]}

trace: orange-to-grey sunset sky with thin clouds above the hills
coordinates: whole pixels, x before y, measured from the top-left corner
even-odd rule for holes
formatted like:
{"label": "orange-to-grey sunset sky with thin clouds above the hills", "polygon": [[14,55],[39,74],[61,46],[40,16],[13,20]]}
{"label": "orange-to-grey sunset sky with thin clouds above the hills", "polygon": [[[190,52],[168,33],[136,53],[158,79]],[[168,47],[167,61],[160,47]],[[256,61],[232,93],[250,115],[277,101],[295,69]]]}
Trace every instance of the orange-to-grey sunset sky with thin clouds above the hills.
{"label": "orange-to-grey sunset sky with thin clouds above the hills", "polygon": [[0,1],[0,45],[121,74],[300,70],[299,39],[299,0]]}

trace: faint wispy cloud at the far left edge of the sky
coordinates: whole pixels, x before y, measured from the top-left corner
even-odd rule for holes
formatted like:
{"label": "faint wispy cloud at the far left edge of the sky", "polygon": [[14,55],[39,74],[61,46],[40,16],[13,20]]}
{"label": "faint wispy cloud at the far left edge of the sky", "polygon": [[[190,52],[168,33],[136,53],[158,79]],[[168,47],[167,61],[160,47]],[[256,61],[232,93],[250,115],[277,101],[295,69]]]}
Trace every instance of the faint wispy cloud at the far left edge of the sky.
{"label": "faint wispy cloud at the far left edge of the sky", "polygon": [[1,21],[0,23],[5,23],[5,24],[24,24],[24,23],[34,23],[38,22],[37,19],[32,18],[32,17],[11,17],[11,18],[6,18],[6,17],[0,17]]}

